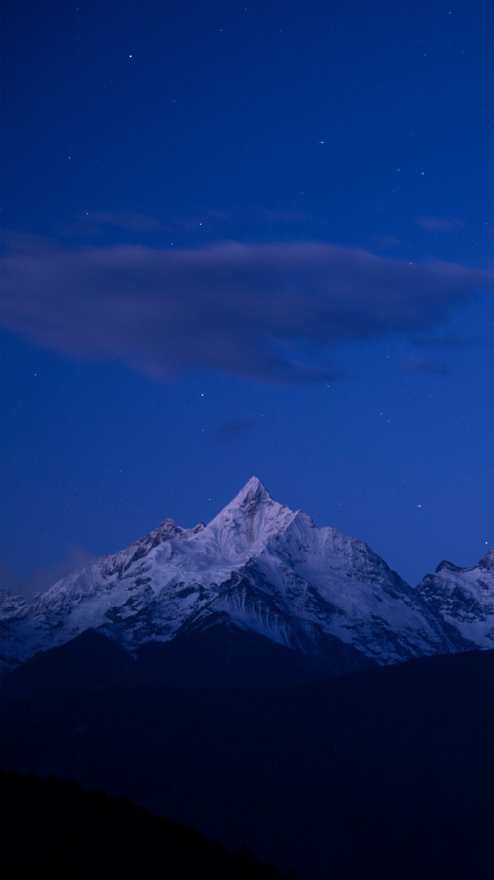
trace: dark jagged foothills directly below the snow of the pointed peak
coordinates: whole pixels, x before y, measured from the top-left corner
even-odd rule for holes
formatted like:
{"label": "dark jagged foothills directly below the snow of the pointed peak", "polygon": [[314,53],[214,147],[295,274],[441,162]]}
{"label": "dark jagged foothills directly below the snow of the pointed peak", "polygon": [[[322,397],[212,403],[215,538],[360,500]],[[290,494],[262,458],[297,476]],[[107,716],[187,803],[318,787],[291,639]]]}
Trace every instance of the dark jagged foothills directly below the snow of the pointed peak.
{"label": "dark jagged foothills directly below the snow of the pointed peak", "polygon": [[4,678],[3,700],[50,687],[99,690],[111,686],[283,687],[375,665],[375,661],[324,634],[325,662],[237,627],[227,614],[178,634],[147,642],[131,656],[97,630],[88,629],[59,648],[38,651]]}

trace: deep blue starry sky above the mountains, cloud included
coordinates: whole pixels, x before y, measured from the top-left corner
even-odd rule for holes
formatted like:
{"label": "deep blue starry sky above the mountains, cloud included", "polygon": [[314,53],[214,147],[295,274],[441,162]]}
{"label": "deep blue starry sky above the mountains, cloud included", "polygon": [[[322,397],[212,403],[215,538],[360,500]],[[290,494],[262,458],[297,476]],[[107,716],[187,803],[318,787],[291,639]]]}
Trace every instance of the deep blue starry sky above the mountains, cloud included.
{"label": "deep blue starry sky above the mountains, cloud included", "polygon": [[4,2],[4,566],[207,521],[254,473],[410,583],[485,553],[492,23]]}

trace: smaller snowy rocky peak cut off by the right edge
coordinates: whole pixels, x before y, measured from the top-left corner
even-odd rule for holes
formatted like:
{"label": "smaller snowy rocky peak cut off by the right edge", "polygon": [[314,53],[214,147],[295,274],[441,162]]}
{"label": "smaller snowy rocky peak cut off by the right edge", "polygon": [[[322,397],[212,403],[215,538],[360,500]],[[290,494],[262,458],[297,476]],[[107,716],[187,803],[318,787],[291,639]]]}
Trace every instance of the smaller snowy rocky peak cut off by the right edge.
{"label": "smaller snowy rocky peak cut off by the right edge", "polygon": [[417,590],[455,649],[494,648],[494,547],[472,568],[443,560]]}

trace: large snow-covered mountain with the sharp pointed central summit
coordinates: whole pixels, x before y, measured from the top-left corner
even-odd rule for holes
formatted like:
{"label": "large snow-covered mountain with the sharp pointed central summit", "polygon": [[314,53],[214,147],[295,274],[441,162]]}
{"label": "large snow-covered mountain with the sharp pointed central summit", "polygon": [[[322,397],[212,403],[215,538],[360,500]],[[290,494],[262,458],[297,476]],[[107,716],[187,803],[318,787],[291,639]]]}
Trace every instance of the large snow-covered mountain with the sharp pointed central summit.
{"label": "large snow-covered mountain with the sharp pointed central summit", "polygon": [[[454,577],[458,571],[464,578],[470,569],[454,569]],[[476,576],[469,589],[478,593],[474,582]],[[473,593],[471,601],[454,598],[460,582],[448,588],[451,601],[441,583],[430,592],[425,582],[413,589],[362,541],[316,528],[301,510],[274,502],[253,477],[206,526],[181,529],[165,519],[30,603],[6,597],[3,662],[13,669],[88,629],[130,656],[149,642],[181,644],[190,655],[194,639],[206,638],[208,649],[215,640],[229,649],[249,645],[251,663],[256,644],[271,645],[301,658],[313,678],[469,649],[472,642],[488,647],[462,619],[471,622],[488,606],[491,612],[491,580],[485,596],[476,594],[475,608]]]}

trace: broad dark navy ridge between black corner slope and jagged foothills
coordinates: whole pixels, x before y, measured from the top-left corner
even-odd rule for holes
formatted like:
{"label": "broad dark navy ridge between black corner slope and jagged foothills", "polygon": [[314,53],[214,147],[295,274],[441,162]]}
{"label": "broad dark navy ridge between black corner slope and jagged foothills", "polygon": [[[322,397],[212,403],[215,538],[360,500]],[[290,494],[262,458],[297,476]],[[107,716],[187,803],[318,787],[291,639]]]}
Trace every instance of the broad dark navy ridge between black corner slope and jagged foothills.
{"label": "broad dark navy ridge between black corner slope and jagged foothills", "polygon": [[52,689],[4,702],[3,763],[301,880],[466,880],[493,860],[493,672],[471,651],[271,691]]}

